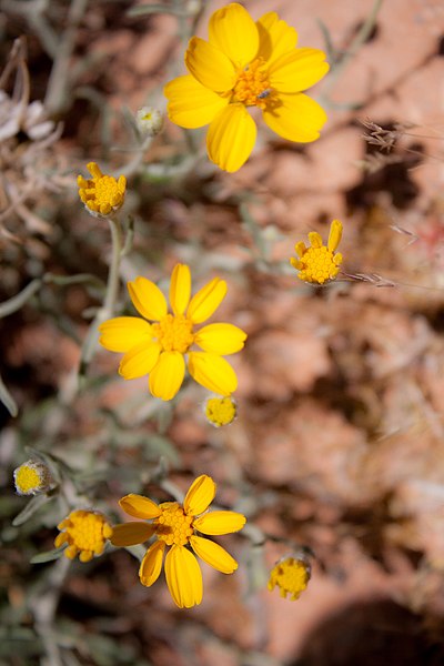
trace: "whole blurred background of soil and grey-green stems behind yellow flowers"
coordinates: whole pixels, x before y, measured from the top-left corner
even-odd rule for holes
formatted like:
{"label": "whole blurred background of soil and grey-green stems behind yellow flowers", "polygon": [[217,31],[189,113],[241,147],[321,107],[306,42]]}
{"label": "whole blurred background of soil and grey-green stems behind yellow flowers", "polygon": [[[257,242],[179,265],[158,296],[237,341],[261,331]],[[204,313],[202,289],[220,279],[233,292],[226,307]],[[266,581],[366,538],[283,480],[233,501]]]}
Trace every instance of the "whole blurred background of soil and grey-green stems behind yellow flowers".
{"label": "whole blurred background of soil and grey-green stems behind yellow flowers", "polygon": [[[0,2],[0,662],[442,664],[442,2],[246,1],[327,51],[330,120],[305,147],[262,128],[234,175],[200,132],[167,123],[148,145],[133,121],[164,109],[189,36],[222,2],[145,4]],[[113,354],[87,357],[111,249],[77,195],[91,160],[129,178],[119,312],[127,280],[165,286],[176,261],[195,286],[228,280],[221,320],[249,332],[233,425],[204,421],[199,386],[161,403]],[[349,278],[316,291],[287,258],[333,218]],[[29,501],[12,472],[37,455],[61,483]],[[71,508],[120,519],[123,494],[167,500],[201,473],[250,521],[230,538],[236,574],[205,568],[202,606],[143,588],[123,549],[44,562]],[[313,578],[290,603],[266,569],[300,546]]]}

